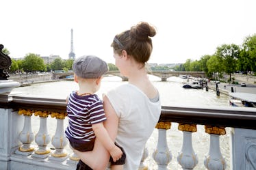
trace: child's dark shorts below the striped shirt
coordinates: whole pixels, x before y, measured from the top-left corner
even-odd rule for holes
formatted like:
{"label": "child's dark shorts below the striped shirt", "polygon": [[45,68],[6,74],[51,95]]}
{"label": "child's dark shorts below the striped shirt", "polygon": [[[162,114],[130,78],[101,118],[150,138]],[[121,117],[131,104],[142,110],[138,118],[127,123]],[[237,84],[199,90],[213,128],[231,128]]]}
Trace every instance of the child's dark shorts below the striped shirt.
{"label": "child's dark shorts below the striped shirt", "polygon": [[[73,144],[71,144],[71,146]],[[76,145],[77,145],[77,143],[76,143]],[[120,148],[120,150],[122,150],[123,155],[120,159],[116,160],[116,162],[114,162],[113,158],[110,157],[110,163],[111,163],[111,165],[124,165],[125,164],[125,158],[126,158],[125,150],[123,150],[123,147],[120,147],[119,145],[117,145],[117,146]],[[73,147],[73,148],[75,148],[75,147]],[[81,147],[79,147],[79,148],[81,149]],[[93,145],[92,145],[92,149],[93,149]],[[79,150],[79,151],[81,151],[81,150]],[[86,151],[90,151],[90,150],[86,150]],[[86,151],[84,151],[84,152],[86,152]],[[79,160],[79,162],[77,163],[77,169],[76,170],[91,170],[91,168],[88,165],[86,165],[83,161]]]}

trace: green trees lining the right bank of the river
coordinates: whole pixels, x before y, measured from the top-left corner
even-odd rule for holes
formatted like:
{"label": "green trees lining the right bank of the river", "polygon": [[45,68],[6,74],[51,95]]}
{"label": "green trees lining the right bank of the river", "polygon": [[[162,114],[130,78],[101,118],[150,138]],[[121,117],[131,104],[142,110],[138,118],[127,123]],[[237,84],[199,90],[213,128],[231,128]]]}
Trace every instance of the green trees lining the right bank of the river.
{"label": "green trees lining the right bank of the river", "polygon": [[256,72],[256,34],[246,37],[241,46],[222,44],[216,48],[214,55],[204,55],[195,61],[187,59],[174,70],[203,71],[214,79],[219,79],[226,73],[229,74],[229,80],[233,72]]}

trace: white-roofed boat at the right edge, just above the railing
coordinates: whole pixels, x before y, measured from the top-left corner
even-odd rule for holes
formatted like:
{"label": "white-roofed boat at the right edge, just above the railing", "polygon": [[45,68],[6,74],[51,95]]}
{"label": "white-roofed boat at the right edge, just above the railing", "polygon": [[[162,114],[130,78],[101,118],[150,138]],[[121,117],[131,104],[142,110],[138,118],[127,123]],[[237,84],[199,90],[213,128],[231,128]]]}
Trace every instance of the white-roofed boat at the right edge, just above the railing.
{"label": "white-roofed boat at the right edge, just above the railing", "polygon": [[229,93],[231,107],[256,107],[256,94]]}

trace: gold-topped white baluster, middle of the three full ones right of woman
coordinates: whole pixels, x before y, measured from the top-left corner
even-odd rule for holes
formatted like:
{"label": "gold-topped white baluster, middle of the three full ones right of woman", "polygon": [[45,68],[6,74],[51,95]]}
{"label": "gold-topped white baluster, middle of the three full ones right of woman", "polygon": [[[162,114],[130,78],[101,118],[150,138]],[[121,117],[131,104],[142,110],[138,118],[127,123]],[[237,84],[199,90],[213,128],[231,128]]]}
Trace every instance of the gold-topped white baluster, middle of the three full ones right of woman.
{"label": "gold-topped white baluster, middle of the three full ones right of woman", "polygon": [[196,132],[196,124],[179,124],[179,130],[183,131],[183,145],[177,161],[182,169],[194,169],[199,162],[192,146],[192,132]]}

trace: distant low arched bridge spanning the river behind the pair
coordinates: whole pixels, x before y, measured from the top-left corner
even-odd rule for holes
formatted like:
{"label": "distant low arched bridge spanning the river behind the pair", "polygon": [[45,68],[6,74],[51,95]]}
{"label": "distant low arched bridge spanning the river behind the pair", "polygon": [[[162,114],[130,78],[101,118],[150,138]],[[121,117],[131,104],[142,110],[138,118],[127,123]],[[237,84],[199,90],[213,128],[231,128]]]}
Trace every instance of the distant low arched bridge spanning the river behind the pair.
{"label": "distant low arched bridge spanning the river behind the pair", "polygon": [[[66,76],[71,76],[73,74],[74,74],[73,72],[54,72],[53,79],[64,79]],[[175,71],[169,71],[169,70],[153,70],[153,71],[148,71],[148,74],[158,76],[161,79],[161,81],[166,81],[171,76],[190,75],[190,76],[201,77],[201,78],[205,78],[206,76],[205,72],[175,72]],[[128,78],[125,76],[122,76],[119,70],[109,71],[107,72],[107,75],[119,76],[120,78],[122,78],[122,81],[128,81]]]}

